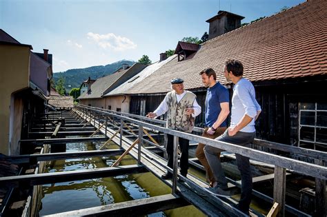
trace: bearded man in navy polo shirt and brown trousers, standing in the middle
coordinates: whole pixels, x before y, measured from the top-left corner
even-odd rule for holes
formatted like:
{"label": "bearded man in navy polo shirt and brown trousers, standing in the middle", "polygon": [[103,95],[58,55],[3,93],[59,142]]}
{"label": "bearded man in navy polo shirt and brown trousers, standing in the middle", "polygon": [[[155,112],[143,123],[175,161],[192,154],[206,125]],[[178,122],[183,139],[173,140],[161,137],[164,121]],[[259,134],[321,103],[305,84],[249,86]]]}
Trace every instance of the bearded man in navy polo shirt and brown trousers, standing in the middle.
{"label": "bearded man in navy polo shirt and brown trousers, standing in the middle", "polygon": [[[202,136],[207,138],[217,138],[223,134],[227,128],[226,118],[229,114],[229,93],[226,87],[216,81],[216,72],[208,68],[200,72],[202,83],[208,87],[206,94],[205,126]],[[204,154],[206,145],[199,143],[195,155],[206,170],[206,178],[210,187],[217,185],[212,174],[210,165]],[[219,158],[220,154],[217,154]]]}

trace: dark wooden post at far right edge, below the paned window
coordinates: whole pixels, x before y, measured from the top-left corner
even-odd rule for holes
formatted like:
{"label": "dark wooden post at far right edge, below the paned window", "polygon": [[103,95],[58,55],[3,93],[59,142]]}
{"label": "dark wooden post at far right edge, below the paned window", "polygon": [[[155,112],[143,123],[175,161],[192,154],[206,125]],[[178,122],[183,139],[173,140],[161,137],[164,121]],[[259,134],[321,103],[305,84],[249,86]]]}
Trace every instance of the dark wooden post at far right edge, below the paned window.
{"label": "dark wooden post at far right edge, below the paned window", "polygon": [[[315,164],[325,166],[323,160],[315,159]],[[326,180],[315,178],[315,216],[327,215]]]}

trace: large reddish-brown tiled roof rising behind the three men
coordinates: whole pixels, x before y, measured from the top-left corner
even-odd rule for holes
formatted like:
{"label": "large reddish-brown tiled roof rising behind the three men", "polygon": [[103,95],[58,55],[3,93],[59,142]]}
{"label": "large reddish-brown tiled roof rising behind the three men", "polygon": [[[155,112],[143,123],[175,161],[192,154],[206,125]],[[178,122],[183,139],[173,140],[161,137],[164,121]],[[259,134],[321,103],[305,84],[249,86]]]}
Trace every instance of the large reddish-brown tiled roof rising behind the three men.
{"label": "large reddish-brown tiled roof rising behind the three men", "polygon": [[184,61],[174,59],[133,87],[133,94],[170,90],[170,79],[184,79],[186,89],[203,87],[199,72],[213,68],[226,84],[224,62],[239,59],[244,77],[266,81],[327,74],[327,1],[301,3],[201,44]]}

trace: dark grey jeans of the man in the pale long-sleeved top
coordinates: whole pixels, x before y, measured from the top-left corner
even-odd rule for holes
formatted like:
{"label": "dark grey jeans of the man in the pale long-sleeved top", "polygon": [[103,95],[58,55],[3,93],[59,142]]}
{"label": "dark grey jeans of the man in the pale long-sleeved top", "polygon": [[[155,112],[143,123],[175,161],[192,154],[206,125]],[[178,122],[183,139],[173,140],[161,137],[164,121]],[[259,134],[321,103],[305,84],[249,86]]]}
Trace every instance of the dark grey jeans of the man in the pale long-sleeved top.
{"label": "dark grey jeans of the man in the pale long-sleeved top", "polygon": [[[255,132],[237,132],[235,136],[228,135],[228,129],[216,138],[217,141],[223,141],[226,143],[232,143],[235,145],[241,145],[244,147],[250,147],[250,144],[255,139]],[[221,168],[221,162],[219,158],[217,158],[217,154],[219,152],[224,152],[222,149],[218,149],[216,147],[212,147],[210,145],[206,145],[204,147],[204,154],[206,154],[206,158],[212,169],[212,173],[217,180],[217,185],[221,187],[221,189],[227,188],[227,180],[224,174],[224,170]],[[246,156],[241,156],[240,154],[235,154],[237,167],[239,168],[239,172],[241,172],[241,199],[239,200],[239,208],[241,210],[248,210],[251,203],[252,197],[252,174],[250,169],[250,161]]]}

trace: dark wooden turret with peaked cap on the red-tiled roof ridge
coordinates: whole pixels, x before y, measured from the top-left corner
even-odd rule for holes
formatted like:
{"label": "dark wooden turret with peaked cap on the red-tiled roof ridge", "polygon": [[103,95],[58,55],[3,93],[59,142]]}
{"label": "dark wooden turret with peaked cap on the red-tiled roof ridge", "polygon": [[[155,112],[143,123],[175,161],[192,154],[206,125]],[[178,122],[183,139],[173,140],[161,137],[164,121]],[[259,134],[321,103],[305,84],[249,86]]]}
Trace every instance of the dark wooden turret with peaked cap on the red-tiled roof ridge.
{"label": "dark wooden turret with peaked cap on the red-tiled roof ridge", "polygon": [[221,34],[225,34],[241,27],[242,19],[244,19],[244,17],[241,17],[237,14],[219,10],[215,17],[212,17],[206,21],[210,24],[208,39],[213,39]]}

